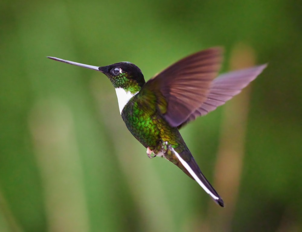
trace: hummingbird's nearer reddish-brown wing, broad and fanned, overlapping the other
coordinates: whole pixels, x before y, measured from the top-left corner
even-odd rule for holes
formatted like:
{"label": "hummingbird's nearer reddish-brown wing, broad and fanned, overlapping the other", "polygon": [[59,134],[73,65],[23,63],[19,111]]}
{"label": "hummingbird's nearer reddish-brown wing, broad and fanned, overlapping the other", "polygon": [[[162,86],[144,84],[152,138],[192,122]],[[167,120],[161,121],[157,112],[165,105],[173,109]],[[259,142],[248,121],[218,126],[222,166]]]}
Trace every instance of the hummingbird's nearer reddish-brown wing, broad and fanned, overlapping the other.
{"label": "hummingbird's nearer reddish-brown wing, broad and fanned, overlapping the other", "polygon": [[221,48],[195,53],[150,79],[141,91],[152,91],[164,118],[172,127],[177,127],[207,100],[221,61]]}

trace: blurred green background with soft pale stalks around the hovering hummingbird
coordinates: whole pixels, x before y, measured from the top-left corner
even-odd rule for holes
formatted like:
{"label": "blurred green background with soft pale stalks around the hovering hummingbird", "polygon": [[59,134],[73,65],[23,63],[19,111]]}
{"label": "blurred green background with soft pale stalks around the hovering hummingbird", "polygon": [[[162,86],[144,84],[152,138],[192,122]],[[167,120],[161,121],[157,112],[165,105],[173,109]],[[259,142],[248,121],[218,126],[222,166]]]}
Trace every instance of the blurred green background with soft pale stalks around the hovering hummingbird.
{"label": "blurred green background with soft pale stalks around the hovering hummingbird", "polygon": [[[302,3],[1,1],[0,231],[301,231]],[[148,159],[95,66],[149,79],[225,48],[222,72],[268,63],[181,133],[225,201]]]}

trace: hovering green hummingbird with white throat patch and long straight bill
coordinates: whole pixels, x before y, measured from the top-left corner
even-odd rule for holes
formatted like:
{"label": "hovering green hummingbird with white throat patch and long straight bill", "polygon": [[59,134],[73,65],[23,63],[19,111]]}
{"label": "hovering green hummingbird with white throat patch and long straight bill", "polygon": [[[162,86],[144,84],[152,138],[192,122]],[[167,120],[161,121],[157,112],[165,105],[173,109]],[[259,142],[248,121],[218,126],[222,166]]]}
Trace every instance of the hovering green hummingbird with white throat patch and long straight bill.
{"label": "hovering green hummingbird with white throat patch and long straight bill", "polygon": [[179,60],[146,82],[139,67],[130,62],[99,67],[47,57],[104,73],[115,88],[126,127],[147,149],[147,156],[171,161],[224,207],[222,198],[202,174],[179,129],[237,95],[266,64],[218,76],[222,49],[214,47]]}

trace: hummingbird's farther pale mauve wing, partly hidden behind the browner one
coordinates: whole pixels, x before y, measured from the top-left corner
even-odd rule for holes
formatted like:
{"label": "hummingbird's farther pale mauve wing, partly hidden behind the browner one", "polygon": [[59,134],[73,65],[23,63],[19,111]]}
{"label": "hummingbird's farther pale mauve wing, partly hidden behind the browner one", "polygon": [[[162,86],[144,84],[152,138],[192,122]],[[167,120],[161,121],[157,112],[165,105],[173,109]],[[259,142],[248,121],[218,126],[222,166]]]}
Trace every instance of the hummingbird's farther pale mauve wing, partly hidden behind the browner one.
{"label": "hummingbird's farther pale mauve wing, partly hidden behind the browner one", "polygon": [[210,92],[207,98],[196,109],[187,120],[178,128],[194,120],[198,116],[203,116],[210,111],[215,110],[218,106],[223,105],[233,96],[239,94],[252,80],[254,80],[267,65],[255,66],[249,69],[228,72],[218,76],[210,85]]}

